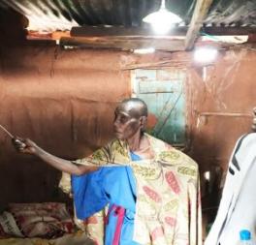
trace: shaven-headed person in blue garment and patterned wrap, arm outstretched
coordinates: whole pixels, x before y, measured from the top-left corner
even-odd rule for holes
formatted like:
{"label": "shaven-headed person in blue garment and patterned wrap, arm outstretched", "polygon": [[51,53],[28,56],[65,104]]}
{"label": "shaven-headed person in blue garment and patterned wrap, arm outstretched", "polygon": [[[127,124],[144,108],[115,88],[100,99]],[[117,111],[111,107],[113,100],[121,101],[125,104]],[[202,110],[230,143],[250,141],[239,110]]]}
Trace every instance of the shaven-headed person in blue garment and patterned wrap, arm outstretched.
{"label": "shaven-headed person in blue garment and patterned wrap, arm outstretched", "polygon": [[[103,244],[201,244],[201,205],[197,165],[163,141],[144,134],[147,107],[128,99],[114,111],[116,137],[91,156],[70,162],[30,139],[16,149],[34,154],[72,175],[78,218],[88,218],[89,235]],[[93,216],[94,215],[94,216]]]}

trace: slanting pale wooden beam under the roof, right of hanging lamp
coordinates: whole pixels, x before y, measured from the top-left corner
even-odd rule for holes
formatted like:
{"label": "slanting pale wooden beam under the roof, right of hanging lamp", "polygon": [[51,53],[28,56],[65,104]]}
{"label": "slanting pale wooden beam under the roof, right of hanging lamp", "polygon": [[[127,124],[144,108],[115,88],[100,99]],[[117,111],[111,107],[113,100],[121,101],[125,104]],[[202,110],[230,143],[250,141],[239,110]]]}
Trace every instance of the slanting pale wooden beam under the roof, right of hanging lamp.
{"label": "slanting pale wooden beam under the roof, right of hanging lamp", "polygon": [[190,50],[195,44],[195,40],[199,34],[199,30],[203,25],[203,21],[208,14],[208,9],[213,0],[197,0],[192,19],[185,39],[185,49]]}

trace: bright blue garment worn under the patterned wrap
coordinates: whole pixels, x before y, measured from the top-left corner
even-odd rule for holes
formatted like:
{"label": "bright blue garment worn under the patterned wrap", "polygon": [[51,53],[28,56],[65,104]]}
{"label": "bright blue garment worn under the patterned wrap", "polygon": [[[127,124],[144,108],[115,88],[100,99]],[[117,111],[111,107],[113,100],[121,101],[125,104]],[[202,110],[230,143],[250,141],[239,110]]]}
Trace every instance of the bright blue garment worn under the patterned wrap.
{"label": "bright blue garment worn under the patterned wrap", "polygon": [[[131,153],[133,161],[141,158]],[[139,245],[132,241],[136,204],[136,180],[130,167],[104,167],[81,176],[72,176],[72,188],[77,216],[86,219],[102,210],[106,205],[122,206],[126,209],[119,245]],[[117,217],[114,210],[109,214],[105,245],[111,245]]]}

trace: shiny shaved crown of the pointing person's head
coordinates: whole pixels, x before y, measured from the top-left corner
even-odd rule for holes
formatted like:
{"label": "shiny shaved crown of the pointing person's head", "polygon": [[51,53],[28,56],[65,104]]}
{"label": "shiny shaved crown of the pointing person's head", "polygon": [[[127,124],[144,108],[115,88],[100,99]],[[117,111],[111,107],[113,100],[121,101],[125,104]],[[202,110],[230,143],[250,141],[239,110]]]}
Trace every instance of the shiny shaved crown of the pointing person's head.
{"label": "shiny shaved crown of the pointing person's head", "polygon": [[125,108],[127,112],[129,111],[131,115],[135,117],[147,117],[147,106],[144,101],[139,98],[125,99],[120,103],[119,107]]}

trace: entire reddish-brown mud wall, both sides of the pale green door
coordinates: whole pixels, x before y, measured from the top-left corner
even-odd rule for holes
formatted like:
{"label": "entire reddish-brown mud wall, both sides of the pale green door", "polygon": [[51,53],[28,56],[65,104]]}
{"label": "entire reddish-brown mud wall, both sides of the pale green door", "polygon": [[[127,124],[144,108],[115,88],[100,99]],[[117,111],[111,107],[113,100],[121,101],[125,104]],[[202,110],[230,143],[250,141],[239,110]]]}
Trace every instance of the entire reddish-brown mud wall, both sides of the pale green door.
{"label": "entire reddish-brown mud wall, both sides of the pale green door", "polygon": [[[131,53],[22,45],[1,49],[0,118],[12,133],[49,152],[80,158],[112,138],[112,111],[131,94],[130,69],[181,69],[186,73],[187,153],[199,164],[203,204],[217,208],[221,179],[256,106],[256,53],[222,51],[208,66],[193,53]],[[59,199],[59,173],[18,155],[0,135],[1,201]],[[204,172],[210,171],[206,181]]]}

